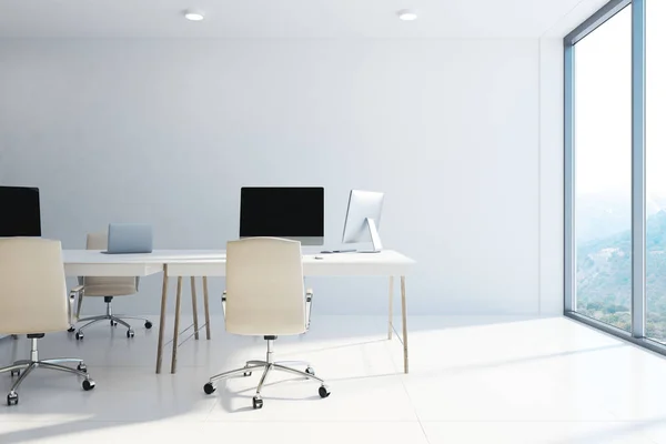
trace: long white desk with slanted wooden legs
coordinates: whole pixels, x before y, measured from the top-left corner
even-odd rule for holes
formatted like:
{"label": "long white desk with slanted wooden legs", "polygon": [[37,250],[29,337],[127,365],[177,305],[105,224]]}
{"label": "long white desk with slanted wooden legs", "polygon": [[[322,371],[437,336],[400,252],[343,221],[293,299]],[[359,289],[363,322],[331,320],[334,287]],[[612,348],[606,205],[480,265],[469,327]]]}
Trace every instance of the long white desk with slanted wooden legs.
{"label": "long white desk with slanted wooden legs", "polygon": [[[381,253],[340,253],[303,256],[305,276],[389,276],[389,339],[393,335],[393,290],[394,278],[401,280],[402,327],[404,372],[408,373],[407,319],[406,319],[406,275],[414,261],[395,251]],[[157,250],[150,254],[102,254],[94,250],[64,250],[64,271],[68,276],[148,276],[164,272],[162,278],[162,301],[160,307],[160,334],[158,340],[157,373],[161,373],[164,344],[164,320],[167,315],[169,278],[178,278],[175,297],[175,323],[171,373],[175,373],[182,279],[190,276],[194,331],[198,339],[196,294],[194,278],[203,278],[206,337],[210,339],[210,315],[208,278],[224,276],[226,255],[221,250]]]}

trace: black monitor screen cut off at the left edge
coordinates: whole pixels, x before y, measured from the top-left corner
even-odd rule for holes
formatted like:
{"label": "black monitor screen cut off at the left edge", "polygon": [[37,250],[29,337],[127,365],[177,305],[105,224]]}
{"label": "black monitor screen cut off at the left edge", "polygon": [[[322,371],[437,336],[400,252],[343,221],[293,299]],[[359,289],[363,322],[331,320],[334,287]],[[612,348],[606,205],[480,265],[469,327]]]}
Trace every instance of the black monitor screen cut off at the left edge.
{"label": "black monitor screen cut off at the left edge", "polygon": [[0,238],[41,236],[39,189],[0,186]]}

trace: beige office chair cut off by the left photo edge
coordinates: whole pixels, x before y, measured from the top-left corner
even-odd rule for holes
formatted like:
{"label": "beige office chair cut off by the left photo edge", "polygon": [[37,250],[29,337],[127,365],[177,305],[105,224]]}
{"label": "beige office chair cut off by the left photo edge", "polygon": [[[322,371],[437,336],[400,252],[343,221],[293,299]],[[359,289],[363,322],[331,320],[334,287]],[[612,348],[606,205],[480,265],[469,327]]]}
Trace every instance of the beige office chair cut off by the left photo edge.
{"label": "beige office chair cut off by the left photo edge", "polygon": [[[58,370],[83,377],[83,390],[94,389],[82,360],[40,360],[37,340],[46,333],[68,330],[72,322],[73,294],[68,299],[64,265],[59,241],[40,238],[0,239],[0,332],[27,334],[30,359],[0,369],[18,379],[7,395],[7,404],[19,403],[17,390],[36,369]],[[63,363],[77,363],[72,369]]]}

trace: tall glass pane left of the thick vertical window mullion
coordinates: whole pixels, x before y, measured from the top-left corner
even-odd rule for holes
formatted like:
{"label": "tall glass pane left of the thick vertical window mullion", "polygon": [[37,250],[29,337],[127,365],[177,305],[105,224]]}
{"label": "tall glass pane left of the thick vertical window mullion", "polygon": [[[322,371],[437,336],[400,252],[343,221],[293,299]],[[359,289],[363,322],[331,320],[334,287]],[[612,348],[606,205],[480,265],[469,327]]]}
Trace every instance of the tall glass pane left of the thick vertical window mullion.
{"label": "tall glass pane left of the thick vertical window mullion", "polygon": [[632,326],[630,6],[575,44],[576,311]]}

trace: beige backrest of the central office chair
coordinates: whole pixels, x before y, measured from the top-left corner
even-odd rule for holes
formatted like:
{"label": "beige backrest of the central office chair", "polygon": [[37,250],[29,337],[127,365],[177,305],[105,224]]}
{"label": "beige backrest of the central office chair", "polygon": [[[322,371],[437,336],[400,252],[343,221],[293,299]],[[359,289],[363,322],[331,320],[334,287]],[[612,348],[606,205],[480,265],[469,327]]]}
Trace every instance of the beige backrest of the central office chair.
{"label": "beige backrest of the central office chair", "polygon": [[306,331],[301,243],[251,238],[226,244],[226,331],[245,335]]}

